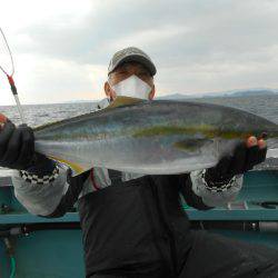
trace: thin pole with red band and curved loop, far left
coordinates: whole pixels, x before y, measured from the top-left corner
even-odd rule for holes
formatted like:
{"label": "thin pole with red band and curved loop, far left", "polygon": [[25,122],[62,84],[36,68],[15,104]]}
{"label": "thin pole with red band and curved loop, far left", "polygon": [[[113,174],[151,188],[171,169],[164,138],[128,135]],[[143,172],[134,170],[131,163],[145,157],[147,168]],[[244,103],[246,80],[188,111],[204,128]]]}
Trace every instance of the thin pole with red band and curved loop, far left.
{"label": "thin pole with red band and curved loop, far left", "polygon": [[24,118],[24,115],[23,115],[23,110],[22,110],[22,107],[20,105],[20,101],[19,101],[19,97],[18,97],[18,89],[16,87],[16,83],[14,83],[14,80],[13,80],[13,75],[14,75],[14,63],[13,63],[13,58],[12,58],[12,52],[10,50],[10,47],[9,47],[9,43],[8,43],[8,40],[6,39],[6,36],[3,33],[3,30],[0,28],[0,32],[2,34],[2,38],[3,38],[3,41],[6,43],[6,47],[8,49],[8,52],[9,52],[9,56],[10,56],[10,60],[11,60],[11,66],[12,66],[12,70],[11,70],[11,73],[9,75],[8,71],[6,71],[1,66],[0,66],[0,70],[7,76],[7,79],[9,81],[9,85],[11,87],[11,92],[12,92],[12,96],[16,100],[16,103],[17,103],[17,107],[18,107],[18,111],[19,111],[19,115],[20,115],[20,119],[22,121],[22,123],[26,123],[26,118]]}

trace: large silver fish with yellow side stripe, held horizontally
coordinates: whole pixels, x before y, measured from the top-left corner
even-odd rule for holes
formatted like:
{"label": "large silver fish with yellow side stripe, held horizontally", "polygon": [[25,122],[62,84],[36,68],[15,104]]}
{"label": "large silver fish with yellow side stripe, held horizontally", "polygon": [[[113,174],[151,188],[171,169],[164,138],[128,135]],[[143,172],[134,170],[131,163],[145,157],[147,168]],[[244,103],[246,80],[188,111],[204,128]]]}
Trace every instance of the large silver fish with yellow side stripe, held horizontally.
{"label": "large silver fish with yellow side stripe, held horizontally", "polygon": [[278,148],[278,125],[210,103],[118,97],[108,108],[34,129],[34,148],[73,175],[105,167],[146,175],[214,167],[237,143],[266,132]]}

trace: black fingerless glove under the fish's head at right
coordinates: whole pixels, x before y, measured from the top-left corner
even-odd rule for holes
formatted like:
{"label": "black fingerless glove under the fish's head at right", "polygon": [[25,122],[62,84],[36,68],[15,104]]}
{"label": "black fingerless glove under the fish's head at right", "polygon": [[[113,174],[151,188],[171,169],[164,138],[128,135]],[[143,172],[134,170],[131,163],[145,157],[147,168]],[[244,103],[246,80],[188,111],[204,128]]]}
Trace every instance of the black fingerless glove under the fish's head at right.
{"label": "black fingerless glove under the fish's head at right", "polygon": [[267,147],[260,149],[258,145],[247,147],[239,143],[231,156],[222,157],[217,166],[207,169],[205,179],[210,182],[229,182],[235,175],[240,175],[252,169],[255,165],[265,161]]}

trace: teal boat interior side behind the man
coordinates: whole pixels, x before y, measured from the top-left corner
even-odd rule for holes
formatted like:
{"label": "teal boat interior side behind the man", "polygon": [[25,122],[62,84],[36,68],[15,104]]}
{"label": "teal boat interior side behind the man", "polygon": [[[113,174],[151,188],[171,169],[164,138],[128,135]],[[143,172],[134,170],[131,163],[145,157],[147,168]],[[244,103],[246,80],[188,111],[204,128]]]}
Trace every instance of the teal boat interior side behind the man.
{"label": "teal boat interior side behind the man", "polygon": [[[68,212],[56,219],[32,216],[16,199],[10,181],[9,177],[0,177],[0,205],[9,208],[0,215],[0,230],[28,225],[37,225],[39,229],[28,236],[11,239],[17,260],[17,277],[85,277],[78,212]],[[262,170],[245,175],[242,190],[237,200],[227,207],[198,211],[182,202],[182,208],[195,228],[206,228],[212,232],[278,249],[278,207],[266,208],[260,203],[277,200],[278,170]],[[53,227],[60,228],[54,230]],[[8,278],[10,262],[1,238],[0,258],[0,277]]]}

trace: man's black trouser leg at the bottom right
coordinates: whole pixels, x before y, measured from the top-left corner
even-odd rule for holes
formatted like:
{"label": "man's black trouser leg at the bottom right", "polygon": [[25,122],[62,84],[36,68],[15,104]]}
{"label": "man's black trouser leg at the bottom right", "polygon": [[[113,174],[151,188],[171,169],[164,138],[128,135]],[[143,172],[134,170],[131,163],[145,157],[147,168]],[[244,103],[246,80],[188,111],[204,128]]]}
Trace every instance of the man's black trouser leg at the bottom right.
{"label": "man's black trouser leg at the bottom right", "polygon": [[[169,278],[168,274],[96,274],[92,278]],[[278,250],[224,236],[196,231],[177,278],[278,278]]]}

